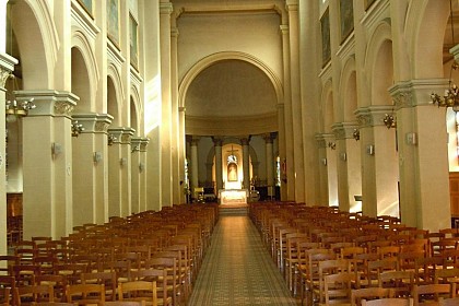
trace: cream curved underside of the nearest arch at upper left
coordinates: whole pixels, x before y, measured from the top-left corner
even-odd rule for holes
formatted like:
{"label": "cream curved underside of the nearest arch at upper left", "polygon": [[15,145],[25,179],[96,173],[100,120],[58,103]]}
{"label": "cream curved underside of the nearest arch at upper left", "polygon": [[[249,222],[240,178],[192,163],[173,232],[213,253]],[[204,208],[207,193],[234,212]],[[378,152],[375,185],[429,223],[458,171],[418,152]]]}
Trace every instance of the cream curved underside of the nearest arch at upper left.
{"label": "cream curved underside of the nearest arch at upper left", "polygon": [[24,90],[52,89],[59,39],[47,2],[26,0],[10,5]]}

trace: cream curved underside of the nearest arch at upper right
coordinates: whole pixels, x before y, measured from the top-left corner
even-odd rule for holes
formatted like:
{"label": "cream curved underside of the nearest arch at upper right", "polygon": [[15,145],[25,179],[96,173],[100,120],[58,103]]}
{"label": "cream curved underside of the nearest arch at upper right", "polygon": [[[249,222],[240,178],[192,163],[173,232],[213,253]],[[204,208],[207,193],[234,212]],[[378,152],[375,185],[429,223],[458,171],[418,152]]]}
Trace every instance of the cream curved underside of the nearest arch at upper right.
{"label": "cream curved underside of the nearest arch at upper right", "polygon": [[444,76],[443,44],[448,15],[449,1],[410,2],[403,28],[410,39],[407,54],[413,55],[410,79]]}

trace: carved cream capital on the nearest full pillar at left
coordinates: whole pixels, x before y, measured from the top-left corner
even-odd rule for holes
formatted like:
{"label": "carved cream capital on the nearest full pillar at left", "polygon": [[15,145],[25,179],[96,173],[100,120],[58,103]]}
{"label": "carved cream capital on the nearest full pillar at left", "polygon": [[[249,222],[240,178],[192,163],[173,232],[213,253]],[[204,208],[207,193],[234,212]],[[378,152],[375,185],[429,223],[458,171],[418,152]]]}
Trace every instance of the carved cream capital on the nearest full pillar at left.
{"label": "carved cream capital on the nearest full pillar at left", "polygon": [[28,110],[28,117],[55,116],[71,117],[80,98],[70,92],[58,91],[16,91],[19,103],[34,99],[35,108]]}

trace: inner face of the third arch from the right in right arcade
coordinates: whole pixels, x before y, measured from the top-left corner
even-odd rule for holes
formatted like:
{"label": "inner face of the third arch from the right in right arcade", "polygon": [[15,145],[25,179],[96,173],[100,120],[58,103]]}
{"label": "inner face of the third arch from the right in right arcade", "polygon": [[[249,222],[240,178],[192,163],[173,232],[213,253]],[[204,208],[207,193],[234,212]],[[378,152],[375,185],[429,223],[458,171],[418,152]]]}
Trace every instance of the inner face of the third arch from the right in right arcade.
{"label": "inner face of the third arch from the right in right arcade", "polygon": [[339,108],[342,118],[337,118],[342,121],[354,121],[354,110],[357,108],[357,80],[355,73],[355,58],[350,57],[341,71],[339,94],[341,102]]}

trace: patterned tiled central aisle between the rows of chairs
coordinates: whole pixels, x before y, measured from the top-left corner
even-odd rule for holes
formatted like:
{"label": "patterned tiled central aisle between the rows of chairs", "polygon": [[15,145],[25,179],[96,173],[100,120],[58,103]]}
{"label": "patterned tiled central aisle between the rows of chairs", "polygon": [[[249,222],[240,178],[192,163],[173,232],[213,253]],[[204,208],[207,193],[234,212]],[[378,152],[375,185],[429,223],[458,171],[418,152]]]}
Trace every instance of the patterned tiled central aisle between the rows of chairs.
{"label": "patterned tiled central aisle between the rows of chairs", "polygon": [[296,305],[248,216],[220,216],[188,305]]}

